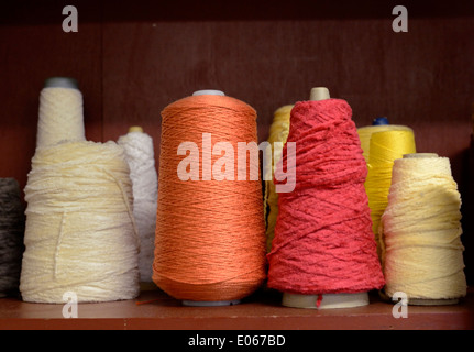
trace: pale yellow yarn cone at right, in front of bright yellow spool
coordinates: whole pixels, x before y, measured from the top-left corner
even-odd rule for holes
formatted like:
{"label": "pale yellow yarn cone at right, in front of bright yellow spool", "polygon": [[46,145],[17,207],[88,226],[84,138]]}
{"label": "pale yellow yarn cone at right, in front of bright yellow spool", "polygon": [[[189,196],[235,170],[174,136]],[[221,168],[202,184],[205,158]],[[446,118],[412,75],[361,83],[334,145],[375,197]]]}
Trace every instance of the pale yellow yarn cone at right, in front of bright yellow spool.
{"label": "pale yellow yarn cone at right, in front of bright yellow spool", "polygon": [[387,296],[403,292],[410,305],[449,305],[466,295],[460,207],[448,157],[395,161],[382,216]]}

